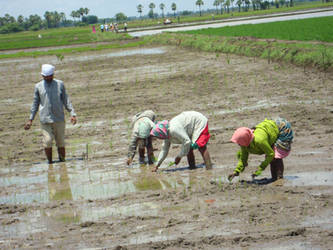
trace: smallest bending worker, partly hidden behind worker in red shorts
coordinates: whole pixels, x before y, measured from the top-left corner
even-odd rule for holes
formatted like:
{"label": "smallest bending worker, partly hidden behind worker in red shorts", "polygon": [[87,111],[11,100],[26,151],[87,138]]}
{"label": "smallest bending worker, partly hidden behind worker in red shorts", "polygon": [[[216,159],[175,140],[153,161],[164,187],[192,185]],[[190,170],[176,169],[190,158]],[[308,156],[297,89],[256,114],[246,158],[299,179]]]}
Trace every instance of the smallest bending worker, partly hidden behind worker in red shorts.
{"label": "smallest bending worker, partly hidden behind worker in red shorts", "polygon": [[148,164],[154,163],[153,145],[150,137],[150,130],[154,126],[155,113],[146,110],[138,113],[132,118],[132,137],[128,148],[127,165],[130,165],[138,146],[139,162],[145,164],[145,148],[147,148]]}

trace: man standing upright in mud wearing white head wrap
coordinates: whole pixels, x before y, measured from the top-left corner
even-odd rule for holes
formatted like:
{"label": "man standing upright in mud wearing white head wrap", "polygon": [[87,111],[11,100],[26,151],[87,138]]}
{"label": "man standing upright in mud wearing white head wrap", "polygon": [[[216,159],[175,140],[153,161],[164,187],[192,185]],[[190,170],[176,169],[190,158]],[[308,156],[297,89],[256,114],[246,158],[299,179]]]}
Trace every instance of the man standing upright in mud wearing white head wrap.
{"label": "man standing upright in mud wearing white head wrap", "polygon": [[49,164],[52,163],[52,141],[58,147],[59,161],[65,161],[65,114],[64,106],[71,113],[71,122],[76,124],[76,114],[66,94],[64,83],[54,79],[54,66],[42,65],[43,80],[35,85],[34,100],[31,106],[29,121],[24,129],[32,126],[40,107],[40,123],[43,133],[43,147]]}

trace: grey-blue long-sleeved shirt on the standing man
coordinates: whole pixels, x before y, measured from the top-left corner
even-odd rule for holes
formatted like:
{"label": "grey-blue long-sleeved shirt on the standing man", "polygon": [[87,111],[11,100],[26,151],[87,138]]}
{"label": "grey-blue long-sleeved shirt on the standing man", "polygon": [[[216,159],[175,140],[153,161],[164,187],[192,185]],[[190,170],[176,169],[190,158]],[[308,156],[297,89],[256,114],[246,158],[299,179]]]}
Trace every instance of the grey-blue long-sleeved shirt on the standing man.
{"label": "grey-blue long-sleeved shirt on the standing man", "polygon": [[76,116],[72,103],[66,94],[62,81],[53,79],[45,80],[35,85],[34,100],[30,110],[30,120],[33,120],[39,109],[41,123],[54,123],[65,121],[64,108]]}

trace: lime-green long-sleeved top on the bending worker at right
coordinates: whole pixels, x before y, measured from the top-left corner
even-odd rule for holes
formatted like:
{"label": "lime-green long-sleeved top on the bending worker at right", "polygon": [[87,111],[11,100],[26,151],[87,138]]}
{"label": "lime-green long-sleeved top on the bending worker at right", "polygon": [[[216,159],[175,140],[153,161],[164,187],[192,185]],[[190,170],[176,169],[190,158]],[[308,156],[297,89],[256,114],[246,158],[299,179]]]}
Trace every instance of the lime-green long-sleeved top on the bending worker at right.
{"label": "lime-green long-sleeved top on the bending worker at right", "polygon": [[274,159],[274,150],[272,145],[278,138],[279,128],[273,120],[265,120],[259,123],[254,132],[254,139],[248,147],[241,146],[237,152],[238,165],[234,170],[235,173],[243,172],[247,166],[249,153],[265,154],[265,160],[259,165],[259,173],[263,171],[268,164]]}

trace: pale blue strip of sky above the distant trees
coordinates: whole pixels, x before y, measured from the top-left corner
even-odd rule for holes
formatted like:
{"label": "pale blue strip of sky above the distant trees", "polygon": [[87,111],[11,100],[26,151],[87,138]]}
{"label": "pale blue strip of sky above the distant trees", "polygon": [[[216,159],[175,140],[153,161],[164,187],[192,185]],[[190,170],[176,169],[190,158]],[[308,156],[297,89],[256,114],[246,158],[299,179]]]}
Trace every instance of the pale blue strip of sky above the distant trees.
{"label": "pale blue strip of sky above the distant trees", "polygon": [[[159,5],[164,3],[164,13],[170,12],[171,4],[176,3],[177,11],[189,10],[198,11],[195,5],[196,0],[0,0],[0,16],[6,13],[17,18],[19,15],[29,17],[30,15],[39,15],[44,18],[46,11],[64,12],[67,19],[71,19],[70,13],[79,8],[88,8],[89,15],[95,15],[99,18],[114,17],[122,12],[126,16],[139,16],[136,6],[143,6],[143,15],[148,14],[149,4],[154,3],[156,8],[154,12],[161,13]],[[203,0],[202,10],[213,9],[214,0]]]}

